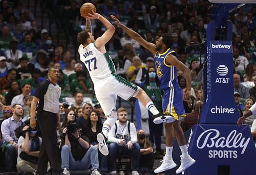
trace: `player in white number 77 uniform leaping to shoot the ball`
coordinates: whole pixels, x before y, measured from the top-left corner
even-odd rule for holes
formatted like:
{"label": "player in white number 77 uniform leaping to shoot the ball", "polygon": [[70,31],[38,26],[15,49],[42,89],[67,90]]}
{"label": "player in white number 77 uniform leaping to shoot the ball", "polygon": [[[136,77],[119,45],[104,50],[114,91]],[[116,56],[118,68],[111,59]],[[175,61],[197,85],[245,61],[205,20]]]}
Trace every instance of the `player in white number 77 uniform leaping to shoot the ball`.
{"label": "player in white number 77 uniform leaping to shoot the ball", "polygon": [[[139,98],[142,104],[152,112],[156,123],[173,122],[175,119],[172,115],[163,115],[162,113],[159,113],[144,90],[135,84],[126,81],[118,74],[115,74],[116,70],[114,63],[109,54],[106,53],[105,49],[105,43],[108,42],[115,33],[115,27],[110,21],[94,11],[88,13],[86,18],[86,30],[77,35],[77,40],[80,43],[78,53],[80,55],[80,60],[86,65],[86,68],[90,73],[94,83],[96,98],[98,99],[104,114],[108,117],[103,124],[102,132],[97,135],[99,151],[106,156],[109,154],[108,146],[106,146],[106,137],[117,120],[117,95],[126,101],[131,97]],[[98,19],[106,28],[103,35],[96,40],[94,40],[94,36],[90,31],[91,22],[88,19]]]}

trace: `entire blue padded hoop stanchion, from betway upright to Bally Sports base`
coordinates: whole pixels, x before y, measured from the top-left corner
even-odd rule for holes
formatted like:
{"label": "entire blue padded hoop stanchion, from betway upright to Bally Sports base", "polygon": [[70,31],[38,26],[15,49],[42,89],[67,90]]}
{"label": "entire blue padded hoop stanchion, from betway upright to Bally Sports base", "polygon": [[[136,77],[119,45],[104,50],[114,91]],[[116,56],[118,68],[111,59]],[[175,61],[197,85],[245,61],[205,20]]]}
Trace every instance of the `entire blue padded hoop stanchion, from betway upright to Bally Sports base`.
{"label": "entire blue padded hoop stanchion, from betway upright to Bally Sports base", "polygon": [[249,126],[237,125],[239,113],[233,95],[230,21],[226,29],[222,34],[226,40],[216,40],[215,21],[207,26],[203,112],[200,123],[185,133],[188,153],[196,163],[182,174],[256,174],[252,168],[256,149]]}

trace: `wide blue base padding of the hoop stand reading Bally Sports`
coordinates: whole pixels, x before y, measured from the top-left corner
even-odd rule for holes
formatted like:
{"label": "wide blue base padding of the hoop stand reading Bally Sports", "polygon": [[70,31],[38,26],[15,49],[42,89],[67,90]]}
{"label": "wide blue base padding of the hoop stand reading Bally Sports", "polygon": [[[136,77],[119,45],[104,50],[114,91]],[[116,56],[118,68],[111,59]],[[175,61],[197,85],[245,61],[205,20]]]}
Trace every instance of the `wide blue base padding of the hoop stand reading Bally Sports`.
{"label": "wide blue base padding of the hoop stand reading Bally Sports", "polygon": [[188,153],[196,160],[185,174],[255,174],[256,149],[248,125],[197,124],[185,135]]}

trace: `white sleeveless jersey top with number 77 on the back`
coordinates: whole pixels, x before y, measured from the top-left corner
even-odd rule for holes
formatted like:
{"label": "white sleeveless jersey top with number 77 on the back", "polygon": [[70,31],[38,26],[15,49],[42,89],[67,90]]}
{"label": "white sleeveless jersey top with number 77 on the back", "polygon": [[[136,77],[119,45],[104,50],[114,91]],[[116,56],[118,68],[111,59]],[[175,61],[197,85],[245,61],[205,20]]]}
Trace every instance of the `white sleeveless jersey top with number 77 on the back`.
{"label": "white sleeveless jersey top with number 77 on the back", "polygon": [[115,65],[108,53],[101,53],[94,42],[78,48],[80,60],[86,65],[93,82],[102,80],[115,73]]}

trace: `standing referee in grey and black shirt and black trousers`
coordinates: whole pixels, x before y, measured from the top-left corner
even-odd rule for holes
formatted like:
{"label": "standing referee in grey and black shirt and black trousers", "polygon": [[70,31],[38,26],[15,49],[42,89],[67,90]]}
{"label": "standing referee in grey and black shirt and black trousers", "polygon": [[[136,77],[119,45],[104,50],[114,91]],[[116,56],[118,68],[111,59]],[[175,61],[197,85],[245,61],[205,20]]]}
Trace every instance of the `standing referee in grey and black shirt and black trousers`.
{"label": "standing referee in grey and black shirt and black trousers", "polygon": [[42,134],[42,143],[39,151],[36,174],[47,174],[47,164],[50,161],[53,174],[61,174],[61,160],[57,146],[57,113],[59,111],[59,97],[61,88],[57,85],[59,69],[55,66],[48,71],[49,79],[45,80],[36,89],[31,103],[30,127],[35,128],[36,118]]}

